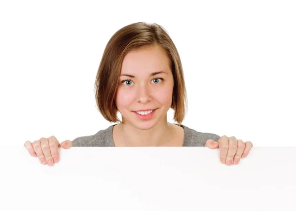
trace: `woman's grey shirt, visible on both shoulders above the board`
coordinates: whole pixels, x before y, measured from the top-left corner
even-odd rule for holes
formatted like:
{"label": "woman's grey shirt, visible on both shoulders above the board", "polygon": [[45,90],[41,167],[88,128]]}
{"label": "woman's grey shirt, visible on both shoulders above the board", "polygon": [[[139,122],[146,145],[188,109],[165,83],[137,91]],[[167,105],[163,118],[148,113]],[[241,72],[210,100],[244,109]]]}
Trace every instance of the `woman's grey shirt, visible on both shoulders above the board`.
{"label": "woman's grey shirt, visible on both shoulders above the board", "polygon": [[[116,124],[115,124],[116,125]],[[82,136],[72,141],[73,146],[114,146],[113,126],[91,136]],[[221,137],[212,133],[201,133],[193,129],[180,125],[184,128],[183,146],[205,146],[206,141],[212,139],[218,141]]]}

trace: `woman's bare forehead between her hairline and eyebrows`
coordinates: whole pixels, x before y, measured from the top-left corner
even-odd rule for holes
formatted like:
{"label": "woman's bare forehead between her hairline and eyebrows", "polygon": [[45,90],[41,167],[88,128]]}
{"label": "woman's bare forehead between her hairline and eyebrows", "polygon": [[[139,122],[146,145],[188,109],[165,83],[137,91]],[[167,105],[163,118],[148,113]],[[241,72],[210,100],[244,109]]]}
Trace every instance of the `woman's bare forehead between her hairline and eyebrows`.
{"label": "woman's bare forehead between her hairline and eyebrows", "polygon": [[165,50],[156,45],[140,50],[132,50],[124,57],[121,67],[122,73],[131,73],[160,69],[169,69],[170,61]]}

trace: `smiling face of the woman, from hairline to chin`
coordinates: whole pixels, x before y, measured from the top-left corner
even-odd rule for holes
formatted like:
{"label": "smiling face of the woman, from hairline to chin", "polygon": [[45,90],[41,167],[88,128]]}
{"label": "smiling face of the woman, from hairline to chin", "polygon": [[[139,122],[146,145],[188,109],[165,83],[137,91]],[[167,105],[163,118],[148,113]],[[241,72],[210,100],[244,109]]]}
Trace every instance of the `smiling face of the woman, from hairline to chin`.
{"label": "smiling face of the woman, from hairline to chin", "polygon": [[[160,46],[129,52],[123,59],[118,83],[115,103],[123,123],[149,129],[167,122],[174,78],[169,58]],[[153,111],[147,116],[136,113],[148,109]]]}

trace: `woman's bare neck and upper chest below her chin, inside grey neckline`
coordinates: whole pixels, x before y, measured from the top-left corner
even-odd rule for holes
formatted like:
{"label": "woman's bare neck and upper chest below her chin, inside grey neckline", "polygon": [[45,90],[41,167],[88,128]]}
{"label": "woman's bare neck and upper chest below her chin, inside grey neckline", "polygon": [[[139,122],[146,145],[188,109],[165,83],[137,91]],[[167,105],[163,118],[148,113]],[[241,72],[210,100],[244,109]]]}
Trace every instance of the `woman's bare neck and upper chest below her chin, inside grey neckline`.
{"label": "woman's bare neck and upper chest below her chin, inside grey neckline", "polygon": [[172,139],[173,126],[164,121],[152,128],[139,129],[130,123],[119,124],[119,131],[125,146],[161,146]]}

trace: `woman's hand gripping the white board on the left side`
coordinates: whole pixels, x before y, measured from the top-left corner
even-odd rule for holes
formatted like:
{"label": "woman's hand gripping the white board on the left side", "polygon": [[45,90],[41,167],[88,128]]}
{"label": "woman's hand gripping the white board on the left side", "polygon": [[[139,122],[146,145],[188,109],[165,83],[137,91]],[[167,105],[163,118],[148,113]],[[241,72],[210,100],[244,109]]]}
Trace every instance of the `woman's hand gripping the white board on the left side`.
{"label": "woman's hand gripping the white board on the left side", "polygon": [[48,166],[52,166],[54,163],[59,162],[59,146],[64,149],[69,149],[73,146],[72,141],[66,140],[59,143],[57,138],[51,136],[47,139],[41,138],[38,141],[26,141],[24,146],[33,157],[38,157],[39,162],[43,165],[47,163]]}

